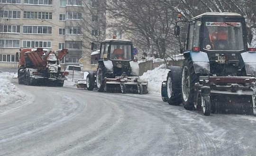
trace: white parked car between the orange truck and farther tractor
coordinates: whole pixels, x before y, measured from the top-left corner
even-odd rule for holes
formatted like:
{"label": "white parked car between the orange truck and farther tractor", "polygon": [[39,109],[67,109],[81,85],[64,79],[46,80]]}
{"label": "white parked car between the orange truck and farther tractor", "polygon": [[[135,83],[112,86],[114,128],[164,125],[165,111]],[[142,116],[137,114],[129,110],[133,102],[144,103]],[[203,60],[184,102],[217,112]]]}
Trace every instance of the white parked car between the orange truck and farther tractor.
{"label": "white parked car between the orange truck and farther tractor", "polygon": [[65,68],[65,72],[69,72],[66,78],[71,79],[74,82],[77,82],[78,79],[83,79],[83,71],[81,66],[68,65]]}

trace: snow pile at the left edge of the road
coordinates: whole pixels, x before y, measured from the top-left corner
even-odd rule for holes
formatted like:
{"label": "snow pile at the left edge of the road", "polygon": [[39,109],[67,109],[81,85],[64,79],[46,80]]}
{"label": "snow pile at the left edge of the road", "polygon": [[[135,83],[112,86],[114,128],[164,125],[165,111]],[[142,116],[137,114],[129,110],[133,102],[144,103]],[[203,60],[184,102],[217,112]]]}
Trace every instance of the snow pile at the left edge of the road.
{"label": "snow pile at the left edge of the road", "polygon": [[26,94],[11,83],[13,75],[9,72],[0,73],[0,106],[13,104],[24,98]]}

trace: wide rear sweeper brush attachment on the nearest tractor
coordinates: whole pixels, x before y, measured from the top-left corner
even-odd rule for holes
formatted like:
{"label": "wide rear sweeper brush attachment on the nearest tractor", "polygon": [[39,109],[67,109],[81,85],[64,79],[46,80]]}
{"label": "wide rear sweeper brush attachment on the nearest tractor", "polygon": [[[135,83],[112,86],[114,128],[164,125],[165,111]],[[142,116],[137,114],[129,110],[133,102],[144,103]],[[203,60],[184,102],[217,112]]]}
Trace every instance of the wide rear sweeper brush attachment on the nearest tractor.
{"label": "wide rear sweeper brush attachment on the nearest tractor", "polygon": [[[200,77],[195,84],[196,97],[201,96],[201,88],[210,87],[211,113],[245,114],[256,116],[255,77]],[[195,104],[200,103],[197,100]],[[199,107],[203,104],[198,104]]]}

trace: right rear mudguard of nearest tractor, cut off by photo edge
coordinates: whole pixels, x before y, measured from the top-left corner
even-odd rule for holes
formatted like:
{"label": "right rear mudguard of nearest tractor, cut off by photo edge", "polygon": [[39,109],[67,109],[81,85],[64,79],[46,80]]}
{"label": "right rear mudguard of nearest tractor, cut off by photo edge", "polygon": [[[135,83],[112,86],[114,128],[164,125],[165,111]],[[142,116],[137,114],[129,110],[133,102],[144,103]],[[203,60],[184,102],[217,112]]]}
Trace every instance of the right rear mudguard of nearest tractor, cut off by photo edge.
{"label": "right rear mudguard of nearest tractor, cut off by photo edge", "polygon": [[241,53],[247,76],[256,76],[256,52]]}

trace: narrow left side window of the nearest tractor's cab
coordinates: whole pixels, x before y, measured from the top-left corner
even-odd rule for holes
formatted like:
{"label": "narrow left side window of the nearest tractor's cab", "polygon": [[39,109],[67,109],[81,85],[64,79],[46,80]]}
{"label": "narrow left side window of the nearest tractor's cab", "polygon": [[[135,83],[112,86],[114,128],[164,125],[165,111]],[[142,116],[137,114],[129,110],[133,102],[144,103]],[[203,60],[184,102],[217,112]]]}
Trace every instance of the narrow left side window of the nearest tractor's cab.
{"label": "narrow left side window of the nearest tractor's cab", "polygon": [[[199,21],[200,22],[200,21]],[[189,31],[189,39],[188,39],[188,49],[192,49],[192,47],[199,47],[199,31],[200,26],[198,21],[192,21],[190,23],[190,31]]]}

